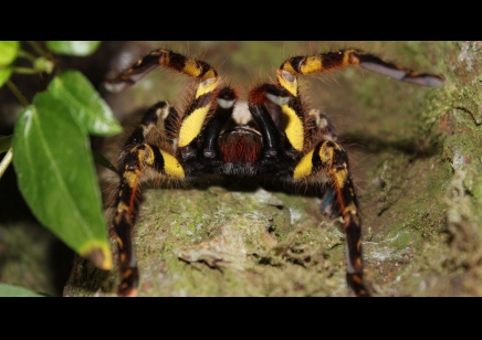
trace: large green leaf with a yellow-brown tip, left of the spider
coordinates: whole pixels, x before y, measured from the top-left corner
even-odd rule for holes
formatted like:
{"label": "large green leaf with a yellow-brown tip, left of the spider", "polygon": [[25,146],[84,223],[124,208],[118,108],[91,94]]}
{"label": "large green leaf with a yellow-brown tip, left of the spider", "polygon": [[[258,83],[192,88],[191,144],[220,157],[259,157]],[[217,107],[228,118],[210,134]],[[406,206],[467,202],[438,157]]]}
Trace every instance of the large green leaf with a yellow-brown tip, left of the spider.
{"label": "large green leaf with a yellow-brown tip, left of the spider", "polygon": [[71,107],[40,93],[19,116],[13,164],[35,217],[81,256],[109,269],[112,255],[88,137]]}

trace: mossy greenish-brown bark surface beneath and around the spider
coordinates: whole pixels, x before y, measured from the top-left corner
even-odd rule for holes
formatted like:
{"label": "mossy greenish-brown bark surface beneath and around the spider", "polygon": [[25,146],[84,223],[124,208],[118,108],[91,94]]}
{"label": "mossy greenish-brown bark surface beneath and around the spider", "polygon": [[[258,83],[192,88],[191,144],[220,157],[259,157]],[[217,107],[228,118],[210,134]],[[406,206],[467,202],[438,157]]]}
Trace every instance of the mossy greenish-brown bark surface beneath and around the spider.
{"label": "mossy greenish-brown bark surface beneath and around the spider", "polygon": [[[350,155],[369,289],[375,296],[482,295],[482,43],[336,46],[346,45],[447,78],[441,88],[422,88],[347,68],[306,81],[313,107],[333,118]],[[272,76],[284,57],[313,52],[289,43],[203,49],[220,74],[248,75],[235,81],[244,88]],[[161,85],[153,85],[156,78]],[[177,77],[157,73],[143,82],[109,98],[117,113],[134,110],[138,97],[144,107],[175,102],[179,89],[158,86],[178,84]],[[112,191],[113,176],[104,180]],[[135,237],[140,296],[347,296],[344,234],[319,214],[316,198],[302,193],[243,182],[147,189]],[[115,241],[112,246],[116,253]],[[64,295],[111,296],[117,283],[115,269],[77,258]]]}

